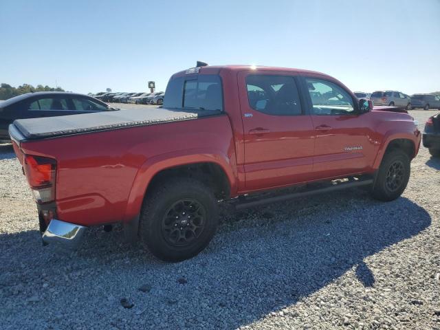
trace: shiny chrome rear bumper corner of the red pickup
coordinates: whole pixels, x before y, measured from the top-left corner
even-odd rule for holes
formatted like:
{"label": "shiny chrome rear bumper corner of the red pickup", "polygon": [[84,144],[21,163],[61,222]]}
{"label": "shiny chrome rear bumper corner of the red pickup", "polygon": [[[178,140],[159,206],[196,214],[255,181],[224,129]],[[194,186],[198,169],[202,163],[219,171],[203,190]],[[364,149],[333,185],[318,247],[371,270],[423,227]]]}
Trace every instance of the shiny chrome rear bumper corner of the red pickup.
{"label": "shiny chrome rear bumper corner of the red pickup", "polygon": [[87,227],[52,219],[43,232],[43,244],[57,245],[63,248],[78,248],[83,241]]}

